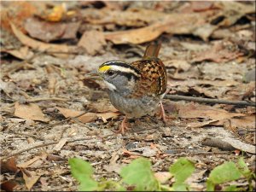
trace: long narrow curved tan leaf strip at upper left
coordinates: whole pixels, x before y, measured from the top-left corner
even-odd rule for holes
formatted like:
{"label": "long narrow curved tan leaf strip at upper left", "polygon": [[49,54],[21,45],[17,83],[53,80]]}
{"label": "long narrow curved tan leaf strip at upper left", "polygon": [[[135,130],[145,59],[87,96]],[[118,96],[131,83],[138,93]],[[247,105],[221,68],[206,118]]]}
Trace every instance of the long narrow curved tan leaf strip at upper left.
{"label": "long narrow curved tan leaf strip at upper left", "polygon": [[66,44],[46,44],[35,39],[27,37],[25,34],[20,32],[17,27],[10,23],[15,36],[20,40],[22,44],[25,44],[32,49],[37,49],[39,51],[50,51],[50,52],[61,52],[61,53],[77,53],[77,46],[71,46]]}

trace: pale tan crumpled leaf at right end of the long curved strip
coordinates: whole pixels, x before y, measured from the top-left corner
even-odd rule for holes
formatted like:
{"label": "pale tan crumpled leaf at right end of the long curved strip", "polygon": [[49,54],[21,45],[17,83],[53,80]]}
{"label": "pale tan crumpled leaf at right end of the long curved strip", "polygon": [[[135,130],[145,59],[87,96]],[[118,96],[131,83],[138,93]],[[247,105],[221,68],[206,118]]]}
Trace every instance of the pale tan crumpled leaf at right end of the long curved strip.
{"label": "pale tan crumpled leaf at right end of the long curved strip", "polygon": [[89,31],[84,32],[78,46],[83,47],[88,54],[96,55],[106,44],[103,32]]}

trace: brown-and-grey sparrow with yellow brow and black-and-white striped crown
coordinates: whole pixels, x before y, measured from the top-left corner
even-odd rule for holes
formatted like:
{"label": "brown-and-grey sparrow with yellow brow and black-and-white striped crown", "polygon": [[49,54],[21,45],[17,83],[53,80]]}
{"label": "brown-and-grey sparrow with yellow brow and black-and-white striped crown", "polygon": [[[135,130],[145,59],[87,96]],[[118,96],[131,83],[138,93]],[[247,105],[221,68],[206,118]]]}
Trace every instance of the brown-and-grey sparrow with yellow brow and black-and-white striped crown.
{"label": "brown-and-grey sparrow with yellow brow and black-and-white striped crown", "polygon": [[129,129],[127,119],[153,115],[159,105],[166,123],[161,101],[166,94],[167,78],[166,67],[158,58],[160,47],[160,43],[148,44],[139,61],[106,61],[98,67],[97,74],[107,85],[110,102],[125,114],[117,133],[124,135]]}

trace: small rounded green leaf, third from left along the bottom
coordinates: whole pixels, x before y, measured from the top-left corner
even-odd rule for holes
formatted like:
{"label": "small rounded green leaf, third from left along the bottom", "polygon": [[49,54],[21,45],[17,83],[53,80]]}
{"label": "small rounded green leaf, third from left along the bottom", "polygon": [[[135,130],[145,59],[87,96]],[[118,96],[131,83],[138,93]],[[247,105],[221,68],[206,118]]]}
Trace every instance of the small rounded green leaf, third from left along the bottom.
{"label": "small rounded green leaf, third from left along the bottom", "polygon": [[194,171],[194,163],[184,157],[179,158],[169,169],[176,183],[183,183]]}

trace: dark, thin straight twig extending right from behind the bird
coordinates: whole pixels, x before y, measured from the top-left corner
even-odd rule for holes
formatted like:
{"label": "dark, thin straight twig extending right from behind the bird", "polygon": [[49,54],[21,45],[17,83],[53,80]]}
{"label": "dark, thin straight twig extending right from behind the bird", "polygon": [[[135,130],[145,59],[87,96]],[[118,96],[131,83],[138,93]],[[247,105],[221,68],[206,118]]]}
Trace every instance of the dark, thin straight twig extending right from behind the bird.
{"label": "dark, thin straight twig extending right from behind the bird", "polygon": [[166,95],[164,98],[171,99],[174,101],[182,100],[182,101],[190,101],[190,102],[208,102],[208,103],[256,107],[255,102],[247,102],[247,101],[227,101],[227,100],[221,100],[221,99],[208,99],[208,98],[201,98],[201,97],[195,97],[195,96],[175,96],[175,95]]}

